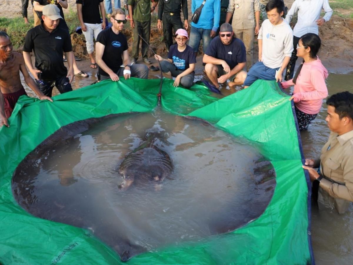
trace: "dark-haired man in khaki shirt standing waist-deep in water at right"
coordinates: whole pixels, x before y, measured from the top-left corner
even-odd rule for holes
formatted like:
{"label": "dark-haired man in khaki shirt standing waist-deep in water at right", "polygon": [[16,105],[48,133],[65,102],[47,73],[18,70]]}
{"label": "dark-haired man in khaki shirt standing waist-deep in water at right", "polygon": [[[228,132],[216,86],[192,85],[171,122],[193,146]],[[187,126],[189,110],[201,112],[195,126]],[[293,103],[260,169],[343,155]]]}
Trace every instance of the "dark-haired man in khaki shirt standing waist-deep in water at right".
{"label": "dark-haired man in khaki shirt standing waist-deep in water at right", "polygon": [[[311,181],[319,181],[318,201],[339,213],[353,201],[353,94],[341,92],[327,100],[331,134],[319,160],[306,159]],[[313,169],[319,167],[320,174]]]}

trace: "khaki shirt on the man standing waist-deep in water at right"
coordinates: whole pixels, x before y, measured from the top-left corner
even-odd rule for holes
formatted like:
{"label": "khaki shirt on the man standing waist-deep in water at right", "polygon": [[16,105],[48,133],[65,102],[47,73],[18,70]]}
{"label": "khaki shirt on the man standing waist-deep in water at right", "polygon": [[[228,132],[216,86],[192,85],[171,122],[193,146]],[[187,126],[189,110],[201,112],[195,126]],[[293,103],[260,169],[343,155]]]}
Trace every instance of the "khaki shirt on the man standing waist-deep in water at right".
{"label": "khaki shirt on the man standing waist-deep in water at right", "polygon": [[353,201],[353,130],[331,133],[321,151],[318,200],[339,213],[348,210]]}

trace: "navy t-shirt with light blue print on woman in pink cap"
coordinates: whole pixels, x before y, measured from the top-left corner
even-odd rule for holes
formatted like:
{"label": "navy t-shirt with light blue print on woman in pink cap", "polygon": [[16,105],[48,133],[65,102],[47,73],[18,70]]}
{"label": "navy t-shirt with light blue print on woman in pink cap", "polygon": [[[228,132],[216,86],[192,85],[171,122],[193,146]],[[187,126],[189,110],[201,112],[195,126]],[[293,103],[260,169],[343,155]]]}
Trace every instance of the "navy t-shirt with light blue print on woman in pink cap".
{"label": "navy t-shirt with light blue print on woman in pink cap", "polygon": [[168,59],[173,60],[173,64],[178,70],[186,70],[190,67],[189,64],[196,63],[194,50],[189,45],[186,45],[183,52],[178,51],[178,44],[170,46]]}

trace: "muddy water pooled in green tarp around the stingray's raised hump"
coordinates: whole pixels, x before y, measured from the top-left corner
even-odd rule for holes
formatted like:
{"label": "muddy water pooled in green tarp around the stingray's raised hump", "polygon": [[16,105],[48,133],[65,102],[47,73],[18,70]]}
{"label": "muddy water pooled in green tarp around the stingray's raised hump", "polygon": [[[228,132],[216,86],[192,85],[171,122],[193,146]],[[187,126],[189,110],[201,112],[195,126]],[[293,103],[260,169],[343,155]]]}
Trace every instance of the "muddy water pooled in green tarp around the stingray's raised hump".
{"label": "muddy water pooled in green tarp around the stingray's raised hump", "polygon": [[[119,189],[119,165],[151,132],[173,172]],[[265,210],[275,188],[275,171],[256,147],[158,110],[96,124],[19,167],[13,189],[22,207],[87,228],[123,257],[234,230]]]}

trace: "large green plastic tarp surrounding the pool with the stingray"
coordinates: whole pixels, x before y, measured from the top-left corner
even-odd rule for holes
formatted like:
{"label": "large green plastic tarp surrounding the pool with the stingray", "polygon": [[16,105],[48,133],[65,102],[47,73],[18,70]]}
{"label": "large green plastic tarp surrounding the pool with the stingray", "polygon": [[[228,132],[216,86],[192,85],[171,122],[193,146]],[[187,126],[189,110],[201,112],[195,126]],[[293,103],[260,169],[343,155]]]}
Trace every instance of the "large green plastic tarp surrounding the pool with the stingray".
{"label": "large green plastic tarp surrounding the pool with the stingray", "polygon": [[[53,103],[20,98],[10,128],[0,129],[0,263],[121,263],[114,251],[88,231],[25,212],[13,199],[11,177],[20,161],[61,126],[112,113],[152,111],[159,83],[136,78],[103,81],[55,96]],[[274,196],[265,212],[242,228],[203,242],[143,253],[127,263],[310,263],[308,190],[289,97],[273,81],[258,80],[222,99],[201,85],[187,90],[172,84],[171,80],[163,82],[162,109],[208,120],[228,133],[257,142],[276,170]]]}

